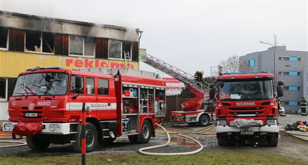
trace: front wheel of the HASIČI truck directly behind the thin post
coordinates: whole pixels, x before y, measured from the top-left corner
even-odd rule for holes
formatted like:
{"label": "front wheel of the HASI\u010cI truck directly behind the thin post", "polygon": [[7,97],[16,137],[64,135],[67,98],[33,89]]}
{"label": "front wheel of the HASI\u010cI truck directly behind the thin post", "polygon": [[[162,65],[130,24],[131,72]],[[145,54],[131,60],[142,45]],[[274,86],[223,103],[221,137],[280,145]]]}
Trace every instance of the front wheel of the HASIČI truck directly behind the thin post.
{"label": "front wheel of the HASI\u010cI truck directly behind the thin post", "polygon": [[[97,131],[93,124],[86,124],[86,152],[92,152],[97,144]],[[76,152],[81,153],[81,126],[78,127],[76,141],[73,142],[73,147]]]}

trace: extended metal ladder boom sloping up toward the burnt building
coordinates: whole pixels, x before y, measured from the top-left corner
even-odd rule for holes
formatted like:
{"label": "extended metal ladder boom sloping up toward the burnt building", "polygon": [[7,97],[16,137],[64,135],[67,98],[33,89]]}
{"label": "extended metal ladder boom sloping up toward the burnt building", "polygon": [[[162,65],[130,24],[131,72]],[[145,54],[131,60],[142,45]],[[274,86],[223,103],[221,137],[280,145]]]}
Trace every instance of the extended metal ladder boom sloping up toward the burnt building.
{"label": "extended metal ladder boom sloping up toward the burnt building", "polygon": [[204,82],[205,84],[201,84],[199,82],[196,82],[194,79],[194,76],[190,75],[189,73],[186,73],[166,62],[163,62],[149,54],[146,54],[146,61],[145,63],[147,63],[148,65],[151,65],[152,67],[154,67],[155,69],[158,69],[166,74],[168,74],[171,77],[176,78],[177,80],[179,80],[180,82],[185,83],[186,85],[194,88],[195,90],[197,90],[200,93],[203,94],[207,94],[209,92],[209,83],[208,82]]}

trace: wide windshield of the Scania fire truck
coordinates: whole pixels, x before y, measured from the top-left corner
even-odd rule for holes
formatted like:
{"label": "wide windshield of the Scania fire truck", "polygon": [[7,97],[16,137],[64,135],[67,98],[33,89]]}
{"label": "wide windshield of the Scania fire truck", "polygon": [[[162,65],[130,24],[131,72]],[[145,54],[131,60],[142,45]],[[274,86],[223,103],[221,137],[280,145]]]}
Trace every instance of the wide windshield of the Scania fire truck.
{"label": "wide windshield of the Scania fire truck", "polygon": [[272,80],[220,82],[219,100],[271,100],[274,98]]}

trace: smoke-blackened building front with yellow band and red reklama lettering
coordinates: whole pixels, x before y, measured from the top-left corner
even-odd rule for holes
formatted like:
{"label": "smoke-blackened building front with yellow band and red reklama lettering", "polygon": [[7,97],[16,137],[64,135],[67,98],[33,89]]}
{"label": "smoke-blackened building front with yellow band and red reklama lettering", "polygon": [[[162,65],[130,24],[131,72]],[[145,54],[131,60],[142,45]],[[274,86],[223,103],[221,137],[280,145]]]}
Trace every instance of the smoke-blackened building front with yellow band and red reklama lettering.
{"label": "smoke-blackened building front with yellow band and red reklama lettering", "polygon": [[[0,120],[29,67],[139,69],[139,29],[0,11]],[[128,62],[129,61],[129,62]]]}

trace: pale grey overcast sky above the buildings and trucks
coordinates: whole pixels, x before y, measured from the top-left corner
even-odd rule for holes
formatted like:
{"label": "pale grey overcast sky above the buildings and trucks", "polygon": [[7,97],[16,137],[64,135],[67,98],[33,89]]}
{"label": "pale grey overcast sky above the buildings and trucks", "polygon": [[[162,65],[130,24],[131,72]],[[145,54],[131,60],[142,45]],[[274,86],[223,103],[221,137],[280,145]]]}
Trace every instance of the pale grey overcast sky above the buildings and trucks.
{"label": "pale grey overcast sky above the buildings and trucks", "polygon": [[[144,31],[140,48],[189,74],[210,76],[232,55],[268,44],[308,51],[308,0],[0,0],[0,10]],[[140,62],[140,69],[155,69]],[[217,68],[212,68],[212,70]],[[164,74],[165,77],[166,74]]]}

